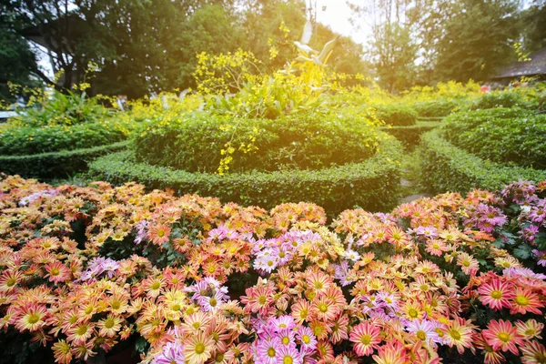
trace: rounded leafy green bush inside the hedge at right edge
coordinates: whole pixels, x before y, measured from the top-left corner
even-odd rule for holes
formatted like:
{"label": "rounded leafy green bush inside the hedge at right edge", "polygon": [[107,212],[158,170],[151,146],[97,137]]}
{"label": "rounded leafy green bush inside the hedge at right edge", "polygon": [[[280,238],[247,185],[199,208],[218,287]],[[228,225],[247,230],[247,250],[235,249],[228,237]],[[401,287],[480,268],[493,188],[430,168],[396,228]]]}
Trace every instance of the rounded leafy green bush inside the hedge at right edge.
{"label": "rounded leafy green bush inside the hedge at right edge", "polygon": [[495,108],[448,116],[443,135],[455,146],[498,163],[546,168],[546,115]]}

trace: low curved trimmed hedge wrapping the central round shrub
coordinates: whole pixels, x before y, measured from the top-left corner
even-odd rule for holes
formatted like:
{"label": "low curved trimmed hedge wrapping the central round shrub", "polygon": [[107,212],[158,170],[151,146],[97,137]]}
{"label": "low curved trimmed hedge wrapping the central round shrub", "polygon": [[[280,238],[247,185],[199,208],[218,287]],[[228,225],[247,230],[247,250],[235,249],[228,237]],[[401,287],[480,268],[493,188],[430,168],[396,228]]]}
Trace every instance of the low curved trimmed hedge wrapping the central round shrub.
{"label": "low curved trimmed hedge wrapping the central round shrub", "polygon": [[136,163],[132,152],[126,151],[96,159],[89,172],[91,177],[114,184],[135,181],[150,189],[170,187],[179,195],[197,193],[247,206],[270,208],[288,201],[308,201],[335,215],[356,206],[371,211],[395,206],[400,158],[400,143],[385,137],[379,152],[361,163],[318,170],[252,171],[221,177]]}

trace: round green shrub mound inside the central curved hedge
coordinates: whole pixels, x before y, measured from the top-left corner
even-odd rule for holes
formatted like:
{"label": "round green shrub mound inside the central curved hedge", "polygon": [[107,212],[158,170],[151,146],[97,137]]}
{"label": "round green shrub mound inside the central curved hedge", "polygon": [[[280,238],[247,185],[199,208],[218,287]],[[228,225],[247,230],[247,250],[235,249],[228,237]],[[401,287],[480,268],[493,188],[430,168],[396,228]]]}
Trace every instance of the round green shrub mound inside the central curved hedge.
{"label": "round green shrub mound inside the central curved hedge", "polygon": [[135,151],[137,161],[150,165],[215,172],[225,157],[220,151],[230,143],[232,172],[317,169],[371,157],[377,138],[375,128],[358,117],[305,114],[268,120],[196,113],[149,126],[136,136]]}

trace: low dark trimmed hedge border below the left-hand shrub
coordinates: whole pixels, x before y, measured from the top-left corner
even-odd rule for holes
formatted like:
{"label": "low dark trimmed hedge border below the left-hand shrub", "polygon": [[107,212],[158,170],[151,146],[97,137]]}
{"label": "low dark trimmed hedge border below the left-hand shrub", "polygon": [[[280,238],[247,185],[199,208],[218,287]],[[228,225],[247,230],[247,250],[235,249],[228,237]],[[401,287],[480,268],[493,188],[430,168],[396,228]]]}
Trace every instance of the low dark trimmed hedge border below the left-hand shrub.
{"label": "low dark trimmed hedge border below the left-hand shrub", "polygon": [[60,152],[41,153],[29,156],[0,156],[0,172],[21,177],[54,178],[66,177],[75,172],[84,171],[88,162],[126,149],[129,141],[107,146],[91,147]]}

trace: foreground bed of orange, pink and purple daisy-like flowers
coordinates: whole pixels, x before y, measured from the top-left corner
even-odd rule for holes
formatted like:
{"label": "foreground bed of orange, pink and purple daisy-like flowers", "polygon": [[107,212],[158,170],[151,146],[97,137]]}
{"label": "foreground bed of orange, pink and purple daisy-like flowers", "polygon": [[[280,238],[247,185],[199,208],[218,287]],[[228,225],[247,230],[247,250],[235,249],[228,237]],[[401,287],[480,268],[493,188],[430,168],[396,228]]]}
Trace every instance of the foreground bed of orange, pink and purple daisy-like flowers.
{"label": "foreground bed of orange, pink and purple daisy-like flowers", "polygon": [[0,328],[60,363],[131,340],[153,363],[536,362],[545,253],[513,247],[546,248],[545,189],[347,210],[326,226],[306,203],[5,177]]}

